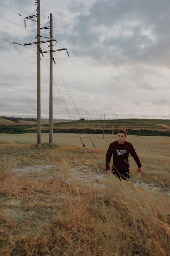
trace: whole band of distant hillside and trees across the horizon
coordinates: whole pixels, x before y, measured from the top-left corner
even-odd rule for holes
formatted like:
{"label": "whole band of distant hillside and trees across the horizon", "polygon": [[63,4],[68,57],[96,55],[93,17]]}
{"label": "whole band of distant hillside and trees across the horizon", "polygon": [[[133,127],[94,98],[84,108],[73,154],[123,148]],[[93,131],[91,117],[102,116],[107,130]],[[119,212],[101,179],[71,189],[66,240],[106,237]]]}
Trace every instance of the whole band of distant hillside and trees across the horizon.
{"label": "whole band of distant hillside and trees across the horizon", "polygon": [[[14,125],[0,125],[0,133],[18,134],[36,132],[36,124],[33,118],[25,118],[27,124],[20,124],[20,118],[14,118]],[[12,120],[12,119],[11,119]],[[24,120],[24,118],[23,118]],[[22,120],[22,121],[23,121]],[[31,123],[33,122],[34,123]],[[43,121],[42,121],[43,122]],[[55,121],[54,121],[55,122]],[[1,122],[2,123],[2,122]],[[16,125],[18,123],[18,125]],[[105,120],[105,134],[116,134],[119,129],[126,129],[130,135],[140,136],[170,136],[170,120],[168,119],[113,119]],[[41,124],[41,132],[49,132],[49,121]],[[53,124],[54,133],[89,133],[103,134],[103,120],[80,120],[63,121]]]}

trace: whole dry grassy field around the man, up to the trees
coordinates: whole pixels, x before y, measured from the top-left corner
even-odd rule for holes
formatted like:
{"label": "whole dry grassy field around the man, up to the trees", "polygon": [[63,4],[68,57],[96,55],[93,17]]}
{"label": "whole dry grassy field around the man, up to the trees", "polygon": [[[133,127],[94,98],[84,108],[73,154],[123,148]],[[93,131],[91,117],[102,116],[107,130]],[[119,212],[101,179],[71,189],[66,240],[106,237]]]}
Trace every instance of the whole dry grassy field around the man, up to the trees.
{"label": "whole dry grassy field around the man, up to the trees", "polygon": [[170,137],[128,136],[129,182],[105,174],[116,135],[0,134],[0,255],[168,256]]}

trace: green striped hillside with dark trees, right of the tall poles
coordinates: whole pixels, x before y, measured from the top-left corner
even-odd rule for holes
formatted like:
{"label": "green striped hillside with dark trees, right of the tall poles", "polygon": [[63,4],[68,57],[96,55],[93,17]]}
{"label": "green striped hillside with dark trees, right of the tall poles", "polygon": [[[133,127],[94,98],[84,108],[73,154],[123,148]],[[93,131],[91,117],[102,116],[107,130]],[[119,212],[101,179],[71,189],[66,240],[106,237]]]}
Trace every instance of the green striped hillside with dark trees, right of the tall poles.
{"label": "green striped hillside with dark trees, right of the tall poles", "polygon": [[[48,129],[46,125],[42,129]],[[54,132],[79,132],[116,134],[125,129],[130,135],[170,136],[170,120],[167,119],[112,119],[112,120],[78,120],[58,123],[53,126]]]}

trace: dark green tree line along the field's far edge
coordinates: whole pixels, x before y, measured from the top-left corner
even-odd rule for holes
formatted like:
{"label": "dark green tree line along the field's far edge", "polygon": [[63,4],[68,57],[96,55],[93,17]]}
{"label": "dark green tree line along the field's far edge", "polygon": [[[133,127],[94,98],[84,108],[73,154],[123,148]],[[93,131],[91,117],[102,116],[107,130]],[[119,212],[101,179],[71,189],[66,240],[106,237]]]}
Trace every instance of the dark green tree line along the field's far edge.
{"label": "dark green tree line along the field's far edge", "polygon": [[[6,134],[20,134],[20,133],[36,133],[36,129],[29,129],[33,126],[28,125],[17,125],[17,126],[7,126],[7,125],[0,125],[0,133]],[[35,125],[34,125],[35,127]],[[49,133],[49,129],[41,129],[42,133]],[[114,134],[117,134],[118,130],[114,130]],[[129,135],[138,135],[138,136],[170,136],[170,131],[157,131],[157,130],[147,130],[147,129],[140,129],[140,130],[132,130],[127,129]],[[78,129],[78,128],[71,128],[71,129],[53,129],[53,133],[88,133],[88,134],[103,134],[103,129]],[[105,134],[112,134],[112,131],[106,129],[104,131]]]}

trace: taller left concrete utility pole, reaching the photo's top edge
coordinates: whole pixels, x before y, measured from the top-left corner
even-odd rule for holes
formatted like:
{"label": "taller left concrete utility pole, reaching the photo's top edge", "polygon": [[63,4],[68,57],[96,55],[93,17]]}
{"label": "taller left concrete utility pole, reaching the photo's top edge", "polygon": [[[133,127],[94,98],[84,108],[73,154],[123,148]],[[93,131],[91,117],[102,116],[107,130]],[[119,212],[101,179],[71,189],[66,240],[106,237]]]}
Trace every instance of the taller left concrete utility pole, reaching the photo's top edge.
{"label": "taller left concrete utility pole, reaching the photo's top edge", "polygon": [[37,0],[37,144],[41,143],[40,0]]}

